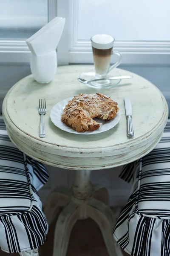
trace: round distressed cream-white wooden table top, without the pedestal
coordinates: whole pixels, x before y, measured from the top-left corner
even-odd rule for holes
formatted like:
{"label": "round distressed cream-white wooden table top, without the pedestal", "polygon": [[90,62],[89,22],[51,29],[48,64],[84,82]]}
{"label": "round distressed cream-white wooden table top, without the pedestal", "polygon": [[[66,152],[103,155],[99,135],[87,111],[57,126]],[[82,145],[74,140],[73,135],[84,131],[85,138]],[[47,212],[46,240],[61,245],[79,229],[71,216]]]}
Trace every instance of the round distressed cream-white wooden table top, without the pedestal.
{"label": "round distressed cream-white wooden table top, without the pedestal", "polygon": [[[38,84],[30,75],[9,90],[3,102],[3,116],[8,134],[17,147],[42,162],[70,169],[118,166],[154,148],[161,137],[168,113],[159,89],[141,76],[119,69],[121,75],[132,74],[133,79],[122,80],[117,87],[95,90],[77,81],[79,73],[89,67],[58,67],[50,84]],[[87,136],[67,133],[51,122],[50,111],[57,102],[79,93],[96,92],[104,93],[118,102],[121,119],[114,128]],[[133,138],[126,135],[124,97],[128,97],[132,104]],[[40,98],[45,98],[47,104],[46,137],[43,139],[39,137],[40,116],[37,110]]]}

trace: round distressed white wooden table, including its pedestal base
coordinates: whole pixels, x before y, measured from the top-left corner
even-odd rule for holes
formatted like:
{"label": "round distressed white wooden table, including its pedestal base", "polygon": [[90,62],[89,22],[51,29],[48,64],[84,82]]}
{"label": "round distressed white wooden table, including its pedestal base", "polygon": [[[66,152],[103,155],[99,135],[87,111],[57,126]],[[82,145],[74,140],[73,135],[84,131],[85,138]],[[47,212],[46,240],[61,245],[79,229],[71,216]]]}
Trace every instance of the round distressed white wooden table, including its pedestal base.
{"label": "round distressed white wooden table, including its pedestal base", "polygon": [[[39,84],[27,76],[15,84],[3,102],[3,117],[11,141],[28,156],[52,166],[76,170],[72,195],[68,189],[55,189],[48,196],[45,214],[51,223],[59,209],[54,239],[54,255],[65,256],[69,236],[78,219],[92,218],[99,225],[110,256],[115,255],[112,230],[115,223],[111,209],[93,198],[90,173],[130,163],[149,153],[161,139],[168,108],[164,96],[152,83],[133,75],[117,87],[95,90],[77,81],[79,73],[90,65],[57,68],[54,80]],[[62,99],[79,93],[101,92],[118,102],[119,124],[100,134],[79,135],[60,130],[50,120],[51,108]],[[134,137],[127,137],[124,97],[132,104]],[[38,101],[46,99],[45,138],[39,137]],[[103,170],[104,171],[104,170]]]}

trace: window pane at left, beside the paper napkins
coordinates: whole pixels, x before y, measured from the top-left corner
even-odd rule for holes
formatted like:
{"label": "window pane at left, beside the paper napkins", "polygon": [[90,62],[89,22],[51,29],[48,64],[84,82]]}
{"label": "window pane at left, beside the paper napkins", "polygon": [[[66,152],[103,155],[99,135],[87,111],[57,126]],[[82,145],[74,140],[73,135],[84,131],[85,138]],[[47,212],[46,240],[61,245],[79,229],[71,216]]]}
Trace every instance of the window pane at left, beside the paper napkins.
{"label": "window pane at left, beside the paper napkins", "polygon": [[26,39],[48,22],[48,0],[0,0],[0,39]]}

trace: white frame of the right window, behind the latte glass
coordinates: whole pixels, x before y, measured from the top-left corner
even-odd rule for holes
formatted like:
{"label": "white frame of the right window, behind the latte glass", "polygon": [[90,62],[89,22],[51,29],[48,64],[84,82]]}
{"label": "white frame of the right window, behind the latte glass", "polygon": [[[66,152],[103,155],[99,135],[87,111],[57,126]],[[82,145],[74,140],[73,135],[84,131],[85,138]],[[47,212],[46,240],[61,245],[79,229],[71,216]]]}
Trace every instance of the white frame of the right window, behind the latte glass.
{"label": "white frame of the right window, behind the latte glass", "polygon": [[[62,2],[62,0],[58,0]],[[70,0],[69,63],[93,63],[91,41],[78,40],[79,0]],[[114,49],[121,52],[125,65],[170,65],[170,41],[116,41]]]}

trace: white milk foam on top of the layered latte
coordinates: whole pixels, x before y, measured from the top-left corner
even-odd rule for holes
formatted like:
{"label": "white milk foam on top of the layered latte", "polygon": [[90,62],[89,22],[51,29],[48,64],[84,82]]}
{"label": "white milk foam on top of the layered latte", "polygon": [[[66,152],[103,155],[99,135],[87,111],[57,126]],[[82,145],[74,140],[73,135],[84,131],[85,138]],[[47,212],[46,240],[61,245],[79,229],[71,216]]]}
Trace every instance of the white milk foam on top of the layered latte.
{"label": "white milk foam on top of the layered latte", "polygon": [[114,38],[111,35],[99,34],[91,38],[91,44],[96,49],[110,49],[113,47]]}

